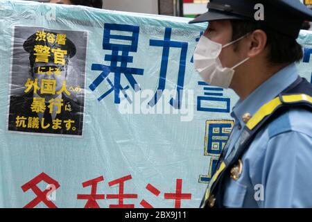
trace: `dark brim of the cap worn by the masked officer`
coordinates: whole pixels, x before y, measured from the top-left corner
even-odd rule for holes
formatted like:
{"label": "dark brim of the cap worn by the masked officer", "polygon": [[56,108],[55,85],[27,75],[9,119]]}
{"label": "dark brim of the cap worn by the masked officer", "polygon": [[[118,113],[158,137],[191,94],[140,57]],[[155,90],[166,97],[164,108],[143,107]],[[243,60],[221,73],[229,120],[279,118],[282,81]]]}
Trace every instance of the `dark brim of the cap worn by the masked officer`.
{"label": "dark brim of the cap worn by the masked officer", "polygon": [[227,19],[244,20],[245,18],[239,15],[231,15],[231,14],[226,14],[224,12],[218,12],[216,10],[209,10],[205,14],[198,16],[196,19],[191,20],[189,24],[200,23],[200,22],[212,22],[212,21],[227,20]]}

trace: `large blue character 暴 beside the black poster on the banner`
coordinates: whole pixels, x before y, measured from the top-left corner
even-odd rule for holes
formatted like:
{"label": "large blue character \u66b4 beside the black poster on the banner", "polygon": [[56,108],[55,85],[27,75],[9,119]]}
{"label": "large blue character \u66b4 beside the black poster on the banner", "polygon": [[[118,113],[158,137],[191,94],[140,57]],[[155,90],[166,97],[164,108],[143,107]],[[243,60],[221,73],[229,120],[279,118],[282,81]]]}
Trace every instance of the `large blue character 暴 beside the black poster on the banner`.
{"label": "large blue character \u66b4 beside the black poster on the banner", "polygon": [[[123,31],[129,32],[132,35],[113,35],[111,31]],[[123,41],[125,44],[116,44],[111,43],[111,40]],[[128,67],[128,63],[133,62],[133,56],[129,56],[130,52],[137,52],[139,42],[139,26],[130,26],[123,24],[105,24],[104,26],[104,37],[103,37],[103,49],[111,50],[112,55],[105,55],[104,60],[109,61],[110,65],[102,64],[92,64],[92,70],[102,71],[101,74],[94,80],[94,82],[89,85],[89,88],[94,91],[98,85],[100,85],[103,80],[107,80],[107,83],[110,84],[111,88],[107,90],[101,97],[98,98],[98,101],[104,99],[108,94],[114,91],[114,103],[120,103],[120,92],[123,93],[125,98],[125,90],[129,88],[121,86],[121,74],[124,74],[130,83],[132,89],[135,89],[137,92],[140,90],[137,86],[137,81],[133,75],[143,75],[144,69],[136,69]],[[130,43],[130,44],[126,44]],[[121,52],[121,53],[119,53]],[[120,55],[121,54],[121,55]],[[117,62],[121,62],[121,65],[118,66]],[[108,78],[108,75],[114,73],[114,83]]]}

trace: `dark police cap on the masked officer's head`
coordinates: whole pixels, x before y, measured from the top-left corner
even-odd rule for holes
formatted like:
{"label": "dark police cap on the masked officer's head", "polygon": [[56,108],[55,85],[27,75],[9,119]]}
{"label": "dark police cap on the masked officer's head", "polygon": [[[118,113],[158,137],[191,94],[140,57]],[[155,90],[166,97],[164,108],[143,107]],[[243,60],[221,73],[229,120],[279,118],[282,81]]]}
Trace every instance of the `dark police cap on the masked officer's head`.
{"label": "dark police cap on the masked officer's head", "polygon": [[[259,5],[261,4],[261,5]],[[263,6],[263,19],[255,16]],[[297,38],[304,21],[312,21],[312,10],[299,0],[210,0],[208,12],[189,23],[217,20],[249,20]]]}

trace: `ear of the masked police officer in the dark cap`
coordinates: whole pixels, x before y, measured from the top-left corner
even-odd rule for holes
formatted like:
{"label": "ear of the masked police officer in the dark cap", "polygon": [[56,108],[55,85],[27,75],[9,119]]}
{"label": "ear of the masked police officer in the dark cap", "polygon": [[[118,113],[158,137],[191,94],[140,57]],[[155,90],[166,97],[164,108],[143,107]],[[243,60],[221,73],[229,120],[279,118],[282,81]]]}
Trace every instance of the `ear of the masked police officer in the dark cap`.
{"label": "ear of the masked police officer in the dark cap", "polygon": [[268,37],[266,33],[261,30],[257,29],[248,35],[248,57],[254,58],[259,56],[266,50],[266,43],[268,41]]}

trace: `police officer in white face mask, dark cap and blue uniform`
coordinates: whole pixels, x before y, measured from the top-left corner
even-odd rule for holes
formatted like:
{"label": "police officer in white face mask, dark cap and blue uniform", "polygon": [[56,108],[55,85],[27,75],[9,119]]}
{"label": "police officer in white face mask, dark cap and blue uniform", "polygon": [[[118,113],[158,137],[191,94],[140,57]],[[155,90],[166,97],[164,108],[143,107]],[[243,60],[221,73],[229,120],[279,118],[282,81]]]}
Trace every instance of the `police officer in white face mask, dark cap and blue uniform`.
{"label": "police officer in white face mask, dark cap and blue uniform", "polygon": [[312,12],[298,0],[211,0],[194,65],[234,89],[235,125],[200,207],[312,207],[312,86],[296,42]]}

